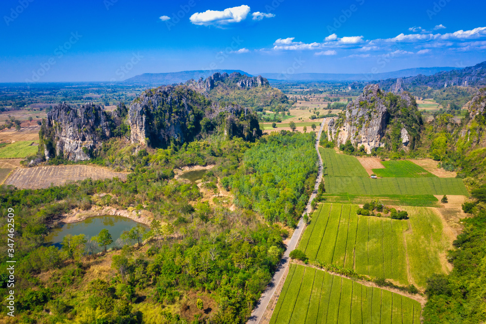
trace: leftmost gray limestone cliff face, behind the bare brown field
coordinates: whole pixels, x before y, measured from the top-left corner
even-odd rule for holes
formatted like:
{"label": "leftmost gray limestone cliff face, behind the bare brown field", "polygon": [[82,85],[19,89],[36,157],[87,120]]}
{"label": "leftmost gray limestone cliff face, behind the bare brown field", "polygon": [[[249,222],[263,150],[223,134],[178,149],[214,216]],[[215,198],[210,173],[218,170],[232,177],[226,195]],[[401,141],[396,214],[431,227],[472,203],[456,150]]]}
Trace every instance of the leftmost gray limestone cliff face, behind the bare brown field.
{"label": "leftmost gray limestone cliff face, behind the bare brown field", "polygon": [[[69,161],[89,160],[89,151],[111,136],[106,112],[91,104],[76,109],[62,103],[48,112],[46,124],[53,132],[55,155]],[[44,154],[46,159],[53,157],[48,147]]]}

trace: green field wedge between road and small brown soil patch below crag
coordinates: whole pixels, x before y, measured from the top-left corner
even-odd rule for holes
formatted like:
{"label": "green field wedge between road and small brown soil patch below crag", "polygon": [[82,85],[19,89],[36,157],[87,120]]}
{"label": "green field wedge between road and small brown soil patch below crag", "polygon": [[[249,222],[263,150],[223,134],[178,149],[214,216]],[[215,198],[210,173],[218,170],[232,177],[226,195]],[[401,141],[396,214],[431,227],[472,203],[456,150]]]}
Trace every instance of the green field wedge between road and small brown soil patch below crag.
{"label": "green field wedge between road and small brown soil patch below crag", "polygon": [[337,154],[332,148],[319,147],[322,162],[326,170],[324,174],[331,177],[364,177],[368,174],[363,165],[353,156]]}

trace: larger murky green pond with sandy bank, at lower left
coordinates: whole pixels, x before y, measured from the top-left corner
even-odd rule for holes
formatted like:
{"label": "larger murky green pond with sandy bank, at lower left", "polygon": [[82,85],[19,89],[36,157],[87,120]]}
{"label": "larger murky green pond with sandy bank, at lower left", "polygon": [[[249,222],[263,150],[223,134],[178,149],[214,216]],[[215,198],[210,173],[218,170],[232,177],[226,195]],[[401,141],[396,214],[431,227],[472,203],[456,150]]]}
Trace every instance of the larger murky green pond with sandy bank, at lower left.
{"label": "larger murky green pond with sandy bank, at lower left", "polygon": [[[132,227],[135,227],[138,224],[139,223],[134,220],[121,216],[106,215],[88,217],[80,222],[64,224],[60,228],[53,229],[51,233],[49,233],[49,235],[45,237],[44,241],[47,245],[54,245],[58,248],[61,248],[62,239],[67,234],[85,234],[86,238],[89,240],[91,237],[98,235],[100,231],[105,228],[108,230],[108,232],[111,234],[111,237],[113,238],[113,243],[106,247],[107,249],[109,249],[115,246],[116,240],[120,238],[120,235],[121,233],[123,233],[123,231],[130,231]],[[143,226],[147,231],[149,230],[146,225],[140,225]]]}

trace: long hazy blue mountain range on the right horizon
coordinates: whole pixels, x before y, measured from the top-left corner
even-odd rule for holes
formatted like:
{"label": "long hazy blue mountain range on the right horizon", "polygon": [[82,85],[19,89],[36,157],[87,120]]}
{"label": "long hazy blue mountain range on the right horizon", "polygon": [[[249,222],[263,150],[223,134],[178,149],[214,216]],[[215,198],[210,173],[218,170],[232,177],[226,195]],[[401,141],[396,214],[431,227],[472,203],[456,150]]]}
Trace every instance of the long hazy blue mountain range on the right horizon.
{"label": "long hazy blue mountain range on the right horizon", "polygon": [[261,73],[260,75],[268,80],[277,81],[371,81],[384,80],[390,78],[404,78],[416,76],[418,74],[432,75],[441,71],[451,71],[460,68],[434,67],[434,68],[414,68],[393,72],[383,73]]}

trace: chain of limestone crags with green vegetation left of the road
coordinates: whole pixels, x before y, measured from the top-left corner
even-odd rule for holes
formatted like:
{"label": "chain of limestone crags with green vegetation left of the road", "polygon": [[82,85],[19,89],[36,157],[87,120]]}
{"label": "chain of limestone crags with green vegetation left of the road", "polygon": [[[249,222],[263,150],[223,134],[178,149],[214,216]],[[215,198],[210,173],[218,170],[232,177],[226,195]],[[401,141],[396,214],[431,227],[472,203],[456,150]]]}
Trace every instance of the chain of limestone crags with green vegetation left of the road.
{"label": "chain of limestone crags with green vegetation left of the road", "polygon": [[[238,98],[235,101],[242,105],[232,100],[211,100],[219,91]],[[113,113],[100,106],[86,105],[78,110],[63,103],[44,121],[38,156],[89,160],[99,154],[105,140],[113,137],[153,148],[182,145],[213,133],[254,141],[261,136],[258,117],[252,105],[244,103],[272,105],[272,100],[263,98],[266,93],[278,93],[288,102],[261,77],[215,73],[205,81],[146,90],[129,108],[120,104]]]}

